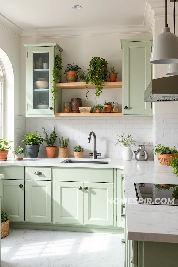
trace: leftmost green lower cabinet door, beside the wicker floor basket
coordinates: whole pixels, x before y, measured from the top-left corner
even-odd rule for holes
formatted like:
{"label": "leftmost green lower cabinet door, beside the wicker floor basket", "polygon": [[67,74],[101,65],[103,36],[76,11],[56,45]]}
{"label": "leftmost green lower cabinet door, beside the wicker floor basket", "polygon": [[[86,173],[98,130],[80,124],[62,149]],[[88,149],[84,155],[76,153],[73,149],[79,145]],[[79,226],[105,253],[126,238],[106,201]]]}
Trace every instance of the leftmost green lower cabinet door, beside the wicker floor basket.
{"label": "leftmost green lower cabinet door, beside the wicker floor basket", "polygon": [[2,210],[11,222],[24,222],[24,181],[3,180],[2,188]]}

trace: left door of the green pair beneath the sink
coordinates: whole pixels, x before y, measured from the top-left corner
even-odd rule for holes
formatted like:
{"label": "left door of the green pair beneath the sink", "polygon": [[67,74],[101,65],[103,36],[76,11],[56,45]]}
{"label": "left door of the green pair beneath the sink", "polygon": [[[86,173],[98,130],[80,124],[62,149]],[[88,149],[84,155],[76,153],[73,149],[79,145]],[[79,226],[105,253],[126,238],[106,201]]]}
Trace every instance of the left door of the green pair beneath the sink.
{"label": "left door of the green pair beneath the sink", "polygon": [[82,182],[55,182],[55,223],[83,224]]}

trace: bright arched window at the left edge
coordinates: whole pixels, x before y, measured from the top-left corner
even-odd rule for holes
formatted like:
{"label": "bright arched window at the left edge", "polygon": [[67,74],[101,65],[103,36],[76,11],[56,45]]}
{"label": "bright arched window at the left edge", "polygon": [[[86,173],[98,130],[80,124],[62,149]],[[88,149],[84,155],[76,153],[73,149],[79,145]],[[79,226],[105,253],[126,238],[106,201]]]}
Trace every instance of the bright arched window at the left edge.
{"label": "bright arched window at the left edge", "polygon": [[5,122],[5,112],[4,112],[4,103],[5,103],[5,77],[4,77],[3,65],[0,61],[0,138],[4,139],[4,122]]}

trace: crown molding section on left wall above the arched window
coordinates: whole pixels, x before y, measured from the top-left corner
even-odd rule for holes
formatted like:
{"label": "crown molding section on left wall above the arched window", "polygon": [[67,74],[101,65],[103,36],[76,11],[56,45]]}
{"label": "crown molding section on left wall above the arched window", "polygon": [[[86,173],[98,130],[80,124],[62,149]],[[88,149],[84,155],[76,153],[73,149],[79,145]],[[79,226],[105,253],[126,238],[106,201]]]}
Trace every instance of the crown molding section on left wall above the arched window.
{"label": "crown molding section on left wall above the arched window", "polygon": [[23,30],[12,21],[4,17],[2,14],[0,14],[0,28],[17,37],[18,39],[21,39]]}

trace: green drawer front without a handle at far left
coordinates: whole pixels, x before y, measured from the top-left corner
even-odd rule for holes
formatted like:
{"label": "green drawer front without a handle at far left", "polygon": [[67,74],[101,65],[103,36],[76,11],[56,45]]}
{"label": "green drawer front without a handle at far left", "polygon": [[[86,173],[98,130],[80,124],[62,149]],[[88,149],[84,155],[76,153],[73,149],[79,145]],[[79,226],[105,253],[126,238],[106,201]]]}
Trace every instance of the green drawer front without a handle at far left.
{"label": "green drawer front without a handle at far left", "polygon": [[1,166],[0,172],[4,174],[3,180],[24,180],[24,166]]}

